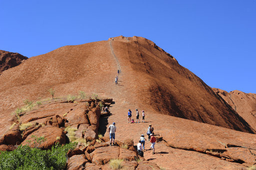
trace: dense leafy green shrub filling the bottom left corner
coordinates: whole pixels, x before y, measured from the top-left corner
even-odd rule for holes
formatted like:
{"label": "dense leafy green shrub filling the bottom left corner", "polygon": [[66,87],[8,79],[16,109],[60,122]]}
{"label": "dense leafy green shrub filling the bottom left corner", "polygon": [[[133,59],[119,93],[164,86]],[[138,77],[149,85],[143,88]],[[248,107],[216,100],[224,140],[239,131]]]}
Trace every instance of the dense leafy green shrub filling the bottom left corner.
{"label": "dense leafy green shrub filling the bottom left corner", "polygon": [[0,170],[63,170],[66,153],[76,143],[55,145],[51,150],[40,150],[20,145],[11,152],[0,152]]}

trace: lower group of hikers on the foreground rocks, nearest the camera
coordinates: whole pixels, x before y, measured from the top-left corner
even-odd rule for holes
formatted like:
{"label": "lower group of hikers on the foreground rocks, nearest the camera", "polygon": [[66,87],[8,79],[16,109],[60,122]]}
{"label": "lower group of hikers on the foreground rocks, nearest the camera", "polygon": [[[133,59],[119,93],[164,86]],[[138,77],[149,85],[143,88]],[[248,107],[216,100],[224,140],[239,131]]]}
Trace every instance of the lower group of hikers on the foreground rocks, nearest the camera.
{"label": "lower group of hikers on the foreground rocks, nearest the camera", "polygon": [[[150,149],[152,149],[152,154],[155,154],[154,145],[155,145],[156,139],[154,137],[153,130],[154,129],[152,128],[152,125],[150,124],[147,128],[146,134],[148,135],[148,141],[151,143]],[[116,132],[116,127],[115,127],[115,123],[113,122],[112,125],[109,125],[109,127],[108,127],[108,133],[109,133],[109,139],[110,139],[109,145],[110,146],[114,145],[115,132]],[[144,155],[145,141],[146,141],[146,139],[144,138],[144,135],[142,134],[140,136],[138,144],[137,144],[137,152],[138,152],[138,155],[141,157],[143,157],[143,155]]]}

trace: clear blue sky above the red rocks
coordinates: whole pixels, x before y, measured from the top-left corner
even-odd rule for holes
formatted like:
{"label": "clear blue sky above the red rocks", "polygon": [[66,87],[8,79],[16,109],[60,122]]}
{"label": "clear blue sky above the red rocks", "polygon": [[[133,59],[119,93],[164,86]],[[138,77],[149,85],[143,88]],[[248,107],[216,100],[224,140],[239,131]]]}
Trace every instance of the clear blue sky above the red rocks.
{"label": "clear blue sky above the red rocks", "polygon": [[210,87],[256,93],[256,0],[0,0],[0,49],[142,36]]}

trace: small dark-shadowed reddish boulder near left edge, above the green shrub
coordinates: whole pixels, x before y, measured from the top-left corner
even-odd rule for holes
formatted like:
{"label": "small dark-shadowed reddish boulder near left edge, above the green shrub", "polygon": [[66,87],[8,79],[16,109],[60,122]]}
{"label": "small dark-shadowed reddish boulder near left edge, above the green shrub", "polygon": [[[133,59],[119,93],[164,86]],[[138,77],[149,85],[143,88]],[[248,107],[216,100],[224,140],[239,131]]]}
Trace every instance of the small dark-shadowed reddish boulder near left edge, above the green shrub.
{"label": "small dark-shadowed reddish boulder near left edge, above the green shrub", "polygon": [[22,137],[19,131],[19,126],[16,125],[14,128],[9,130],[4,136],[3,136],[4,144],[7,145],[19,145],[22,141]]}

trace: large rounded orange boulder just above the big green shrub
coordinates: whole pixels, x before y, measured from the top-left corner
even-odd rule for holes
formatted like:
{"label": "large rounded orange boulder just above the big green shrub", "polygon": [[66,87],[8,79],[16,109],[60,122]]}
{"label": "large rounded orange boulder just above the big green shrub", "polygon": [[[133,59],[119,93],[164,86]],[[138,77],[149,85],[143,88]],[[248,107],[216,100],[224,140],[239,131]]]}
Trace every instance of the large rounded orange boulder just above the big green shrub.
{"label": "large rounded orange boulder just above the big green shrub", "polygon": [[[41,144],[35,142],[33,137],[44,137],[45,141]],[[35,142],[35,144],[34,144]],[[59,143],[60,145],[65,144],[65,134],[63,131],[54,126],[43,126],[38,130],[34,131],[26,137],[26,139],[21,143],[22,145],[29,145],[31,147],[38,147],[42,149],[50,149],[54,144]]]}

